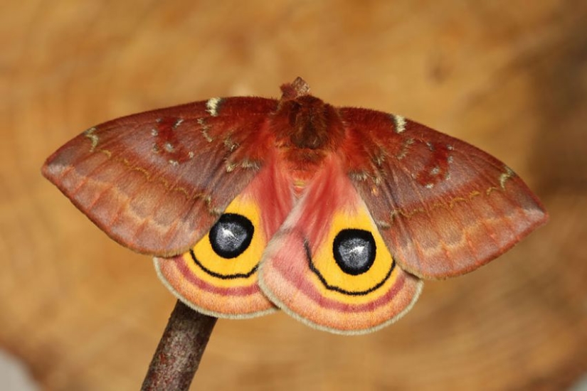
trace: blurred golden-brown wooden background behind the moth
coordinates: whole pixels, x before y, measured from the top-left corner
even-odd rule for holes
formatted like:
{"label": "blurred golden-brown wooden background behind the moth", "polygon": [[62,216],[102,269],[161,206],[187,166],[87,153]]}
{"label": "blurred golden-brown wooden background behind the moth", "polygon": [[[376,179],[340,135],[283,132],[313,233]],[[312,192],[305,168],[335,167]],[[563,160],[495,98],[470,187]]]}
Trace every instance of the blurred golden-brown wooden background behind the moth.
{"label": "blurred golden-brown wooden background behind the moth", "polygon": [[4,1],[0,346],[47,390],[136,390],[174,298],[39,172],[84,129],[211,96],[404,114],[506,161],[549,225],[368,336],[221,320],[199,390],[564,390],[587,372],[587,2]]}

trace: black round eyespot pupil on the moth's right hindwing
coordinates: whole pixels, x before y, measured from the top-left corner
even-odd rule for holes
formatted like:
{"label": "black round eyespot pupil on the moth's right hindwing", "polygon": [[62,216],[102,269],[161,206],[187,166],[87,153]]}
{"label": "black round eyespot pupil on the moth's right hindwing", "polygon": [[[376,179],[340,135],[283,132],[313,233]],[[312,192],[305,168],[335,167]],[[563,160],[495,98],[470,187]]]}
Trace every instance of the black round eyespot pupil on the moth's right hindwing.
{"label": "black round eyespot pupil on the moth's right hindwing", "polygon": [[334,238],[332,250],[340,269],[353,276],[363,274],[375,262],[375,240],[366,230],[341,230]]}

